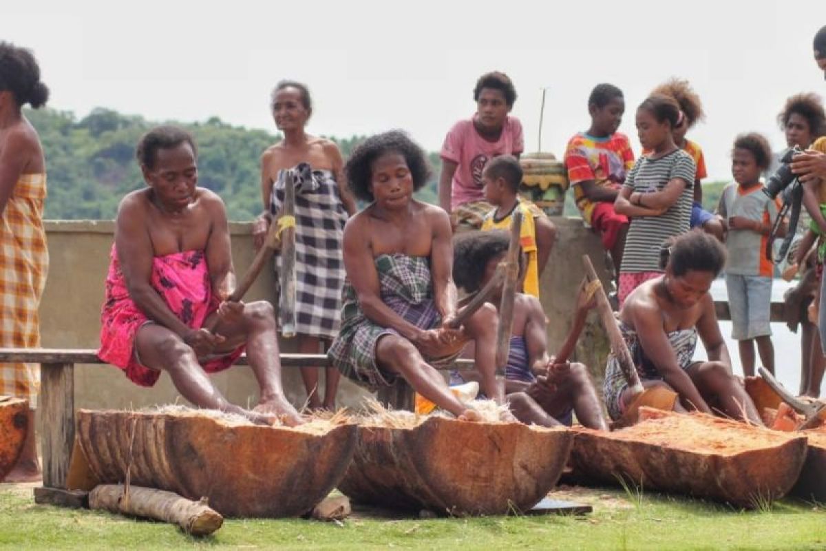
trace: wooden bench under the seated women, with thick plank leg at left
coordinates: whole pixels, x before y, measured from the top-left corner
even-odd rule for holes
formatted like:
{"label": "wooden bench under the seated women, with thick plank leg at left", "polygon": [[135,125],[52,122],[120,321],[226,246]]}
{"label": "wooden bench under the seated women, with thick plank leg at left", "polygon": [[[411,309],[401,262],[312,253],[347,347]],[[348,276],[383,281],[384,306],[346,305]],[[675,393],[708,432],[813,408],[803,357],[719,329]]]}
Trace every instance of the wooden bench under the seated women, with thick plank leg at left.
{"label": "wooden bench under the seated women, with thick plank leg at left", "polygon": [[[66,490],[66,476],[74,446],[74,364],[105,364],[92,349],[0,349],[0,363],[40,363],[40,435],[43,455],[43,487],[35,489],[35,501],[78,506],[81,498]],[[245,355],[236,365],[248,365]],[[281,354],[282,367],[329,366],[326,354]],[[458,359],[457,367],[472,367],[472,360]],[[396,409],[411,410],[413,392],[401,380],[379,392],[378,400]]]}

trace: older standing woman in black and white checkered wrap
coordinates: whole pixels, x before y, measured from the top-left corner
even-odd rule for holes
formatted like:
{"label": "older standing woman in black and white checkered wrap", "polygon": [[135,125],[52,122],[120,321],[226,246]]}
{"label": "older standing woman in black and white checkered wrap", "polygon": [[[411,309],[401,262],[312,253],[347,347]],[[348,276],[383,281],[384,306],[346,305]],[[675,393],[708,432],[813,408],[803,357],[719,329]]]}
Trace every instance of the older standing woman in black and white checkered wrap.
{"label": "older standing woman in black and white checkered wrap", "polygon": [[[306,86],[282,80],[273,90],[275,126],[284,139],[261,156],[261,194],[265,214],[254,226],[255,245],[261,246],[269,223],[284,200],[287,169],[298,168],[296,183],[296,319],[298,352],[318,354],[339,331],[344,261],[341,240],[344,223],[356,211],[344,180],[344,161],[335,143],[304,131],[312,113]],[[298,166],[301,165],[301,166]],[[339,370],[327,368],[325,394],[318,392],[318,368],[301,368],[311,409],[335,409]]]}

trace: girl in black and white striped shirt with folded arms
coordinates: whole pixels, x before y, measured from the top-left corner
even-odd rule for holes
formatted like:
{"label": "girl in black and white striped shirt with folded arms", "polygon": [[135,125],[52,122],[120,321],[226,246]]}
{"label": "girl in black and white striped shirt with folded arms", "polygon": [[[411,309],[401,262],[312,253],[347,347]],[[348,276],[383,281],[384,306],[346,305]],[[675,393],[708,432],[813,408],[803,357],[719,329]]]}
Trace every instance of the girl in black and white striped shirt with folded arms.
{"label": "girl in black and white striped shirt with folded arms", "polygon": [[637,108],[643,149],[625,178],[615,211],[633,217],[619,268],[619,305],[640,283],[662,274],[659,251],[670,237],[689,230],[695,164],[674,143],[680,107],[669,96],[653,94]]}

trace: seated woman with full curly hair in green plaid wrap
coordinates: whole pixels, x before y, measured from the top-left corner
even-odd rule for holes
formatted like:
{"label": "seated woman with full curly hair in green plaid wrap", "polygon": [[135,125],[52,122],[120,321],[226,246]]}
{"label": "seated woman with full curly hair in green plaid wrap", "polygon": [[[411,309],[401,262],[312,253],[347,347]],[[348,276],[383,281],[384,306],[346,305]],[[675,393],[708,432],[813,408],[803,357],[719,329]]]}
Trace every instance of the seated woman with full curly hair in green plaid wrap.
{"label": "seated woman with full curly hair in green plaid wrap", "polygon": [[478,420],[436,367],[447,367],[468,341],[488,397],[503,403],[496,380],[496,311],[486,305],[458,329],[452,231],[447,213],[416,201],[430,170],[425,152],[400,131],[373,135],[344,167],[354,195],[368,206],[344,228],[341,330],[330,360],[344,375],[377,390],[404,378],[422,397],[455,416]]}

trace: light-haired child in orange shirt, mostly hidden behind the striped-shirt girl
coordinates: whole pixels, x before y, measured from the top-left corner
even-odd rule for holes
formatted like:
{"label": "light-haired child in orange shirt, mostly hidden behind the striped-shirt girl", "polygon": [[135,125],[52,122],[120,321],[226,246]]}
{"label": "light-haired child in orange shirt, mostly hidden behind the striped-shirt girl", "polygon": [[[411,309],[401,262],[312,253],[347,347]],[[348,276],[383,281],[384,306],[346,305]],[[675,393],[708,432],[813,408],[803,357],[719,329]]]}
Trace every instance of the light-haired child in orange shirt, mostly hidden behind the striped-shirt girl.
{"label": "light-haired child in orange shirt, mostly hidden behind the striped-shirt girl", "polygon": [[[700,226],[705,233],[714,235],[714,237],[722,241],[724,232],[723,225],[713,214],[703,208],[703,188],[700,180],[708,175],[705,172],[703,150],[696,142],[686,140],[686,132],[691,130],[691,127],[693,127],[697,121],[702,121],[705,118],[700,96],[691,88],[691,84],[689,84],[687,80],[681,80],[679,78],[672,78],[660,84],[657,88],[653,89],[652,93],[671,96],[680,106],[680,118],[673,130],[674,143],[681,150],[691,155],[691,159],[694,159],[697,167],[694,178],[694,203],[691,205],[691,221],[689,225],[692,228]],[[644,154],[648,154],[648,151],[643,151],[643,155]]]}

